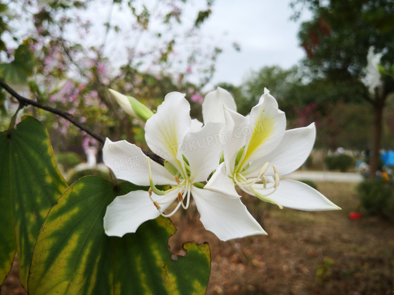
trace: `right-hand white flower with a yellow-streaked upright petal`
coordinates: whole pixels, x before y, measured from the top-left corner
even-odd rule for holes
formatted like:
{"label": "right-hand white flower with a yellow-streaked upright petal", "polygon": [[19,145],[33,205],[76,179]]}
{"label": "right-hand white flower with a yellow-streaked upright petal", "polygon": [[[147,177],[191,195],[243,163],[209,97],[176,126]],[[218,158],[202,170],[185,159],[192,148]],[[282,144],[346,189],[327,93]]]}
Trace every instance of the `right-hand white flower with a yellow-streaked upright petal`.
{"label": "right-hand white flower with a yellow-streaked upright petal", "polygon": [[249,118],[224,107],[224,162],[205,186],[224,195],[235,193],[234,185],[259,199],[301,210],[340,209],[304,183],[279,176],[299,168],[312,151],[315,125],[285,131],[284,112],[265,89]]}

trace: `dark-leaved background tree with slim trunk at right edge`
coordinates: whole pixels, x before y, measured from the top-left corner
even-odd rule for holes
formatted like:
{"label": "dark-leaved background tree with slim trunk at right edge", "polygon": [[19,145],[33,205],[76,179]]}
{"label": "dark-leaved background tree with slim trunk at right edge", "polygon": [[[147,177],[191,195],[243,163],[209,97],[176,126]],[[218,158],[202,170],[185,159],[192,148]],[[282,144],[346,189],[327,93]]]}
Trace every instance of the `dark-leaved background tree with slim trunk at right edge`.
{"label": "dark-leaved background tree with slim trunk at right edge", "polygon": [[[301,25],[299,37],[305,48],[304,60],[313,79],[327,79],[333,85],[345,83],[344,96],[355,95],[370,103],[373,109],[371,144],[371,178],[375,177],[382,137],[383,110],[394,90],[394,3],[390,0],[299,0],[313,13],[313,19]],[[299,11],[298,11],[299,12]],[[297,18],[298,12],[295,13]],[[382,87],[371,94],[361,78],[365,77],[369,48],[382,52]],[[338,96],[337,99],[340,99]],[[362,115],[362,114],[360,114]]]}

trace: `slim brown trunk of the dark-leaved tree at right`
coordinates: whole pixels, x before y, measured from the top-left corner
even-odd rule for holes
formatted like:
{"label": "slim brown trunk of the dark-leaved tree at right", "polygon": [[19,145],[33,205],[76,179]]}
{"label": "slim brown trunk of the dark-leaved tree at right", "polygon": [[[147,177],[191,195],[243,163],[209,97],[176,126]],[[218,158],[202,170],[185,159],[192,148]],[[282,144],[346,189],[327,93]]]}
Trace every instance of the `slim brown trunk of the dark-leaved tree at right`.
{"label": "slim brown trunk of the dark-leaved tree at right", "polygon": [[384,108],[384,97],[378,95],[376,91],[375,101],[373,103],[373,136],[372,136],[372,150],[370,157],[370,169],[369,178],[376,179],[376,171],[378,170],[379,164],[379,149],[380,142],[382,139],[382,126],[383,126],[383,108]]}

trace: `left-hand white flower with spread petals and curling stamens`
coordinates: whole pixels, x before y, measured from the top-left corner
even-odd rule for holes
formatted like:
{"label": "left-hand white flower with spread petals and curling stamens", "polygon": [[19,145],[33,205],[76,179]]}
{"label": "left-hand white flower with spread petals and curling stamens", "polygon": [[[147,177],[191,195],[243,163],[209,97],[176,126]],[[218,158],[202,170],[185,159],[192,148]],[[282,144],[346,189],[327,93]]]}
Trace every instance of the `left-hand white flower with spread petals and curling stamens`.
{"label": "left-hand white flower with spread petals and curling stamens", "polygon": [[[151,186],[150,192],[134,191],[115,198],[104,217],[108,235],[122,237],[127,232],[135,232],[146,220],[160,214],[171,216],[180,206],[186,209],[191,195],[203,225],[219,239],[266,234],[236,193],[223,195],[203,189],[201,182],[206,181],[219,164],[222,153],[219,134],[224,123],[208,122],[202,128],[193,123],[193,127],[189,111],[184,94],[172,92],[146,122],[146,143],[166,160],[165,167],[151,161],[134,144],[106,140],[104,161],[117,178]],[[156,185],[171,188],[161,191]],[[178,202],[176,208],[165,214],[164,210],[174,201]]]}

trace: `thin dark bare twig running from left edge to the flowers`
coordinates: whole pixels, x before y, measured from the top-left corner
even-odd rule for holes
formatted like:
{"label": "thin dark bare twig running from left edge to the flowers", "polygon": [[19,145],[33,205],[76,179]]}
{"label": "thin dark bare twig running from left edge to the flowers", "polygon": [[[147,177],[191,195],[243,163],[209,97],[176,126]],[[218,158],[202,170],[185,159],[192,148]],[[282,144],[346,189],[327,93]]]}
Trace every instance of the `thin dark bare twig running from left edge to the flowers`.
{"label": "thin dark bare twig running from left edge to the flowers", "polygon": [[6,82],[4,82],[2,79],[0,79],[0,86],[2,86],[8,93],[10,93],[12,96],[14,96],[16,99],[19,100],[19,102],[24,103],[25,105],[33,105],[38,108],[42,108],[44,110],[53,112],[57,115],[60,115],[61,117],[64,117],[64,119],[70,121],[72,124],[74,124],[76,127],[79,129],[83,130],[90,136],[94,137],[96,140],[100,141],[103,145],[105,142],[105,138],[101,137],[100,135],[96,134],[94,131],[90,130],[80,122],[74,119],[73,115],[69,114],[68,112],[62,111],[60,109],[45,105],[43,103],[36,102],[34,100],[28,99],[26,97],[23,97],[22,95],[18,94],[14,89],[12,89]]}

